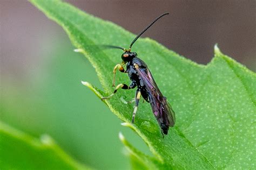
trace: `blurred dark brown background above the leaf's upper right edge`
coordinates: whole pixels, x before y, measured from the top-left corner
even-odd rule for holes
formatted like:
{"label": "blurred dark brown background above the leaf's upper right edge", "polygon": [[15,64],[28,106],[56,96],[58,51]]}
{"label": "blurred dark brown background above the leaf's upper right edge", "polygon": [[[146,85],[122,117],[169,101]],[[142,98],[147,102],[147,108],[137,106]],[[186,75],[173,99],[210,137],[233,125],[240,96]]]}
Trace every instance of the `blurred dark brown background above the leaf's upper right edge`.
{"label": "blurred dark brown background above the leaf's upper right edge", "polygon": [[225,54],[255,70],[256,1],[69,2],[135,34],[161,13],[170,12],[144,37],[198,63],[209,62],[218,43]]}

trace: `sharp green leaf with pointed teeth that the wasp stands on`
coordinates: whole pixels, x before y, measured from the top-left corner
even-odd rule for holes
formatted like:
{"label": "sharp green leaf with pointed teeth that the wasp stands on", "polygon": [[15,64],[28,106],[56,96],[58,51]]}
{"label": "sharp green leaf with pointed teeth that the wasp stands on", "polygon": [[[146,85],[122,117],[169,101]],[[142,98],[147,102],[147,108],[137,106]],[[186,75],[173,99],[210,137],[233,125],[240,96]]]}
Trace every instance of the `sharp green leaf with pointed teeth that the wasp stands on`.
{"label": "sharp green leaf with pointed teeth that the wasp stands on", "polygon": [[[111,22],[88,15],[60,1],[31,1],[46,16],[68,33],[73,45],[96,68],[104,88],[84,84],[99,96],[112,93],[112,70],[121,62],[122,51],[102,50],[98,45],[128,47],[135,37]],[[140,30],[138,30],[140,31]],[[196,49],[195,49],[196,50]],[[150,106],[140,103],[135,123],[131,124],[134,90],[119,90],[108,107],[138,133],[153,157],[135,152],[134,165],[179,169],[254,169],[256,75],[215,47],[215,56],[207,65],[198,65],[169,51],[149,38],[140,38],[132,51],[149,66],[162,93],[176,111],[176,125],[163,138]],[[117,74],[117,83],[129,84],[125,74]]]}

